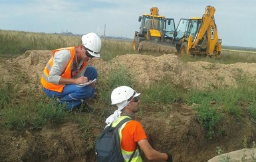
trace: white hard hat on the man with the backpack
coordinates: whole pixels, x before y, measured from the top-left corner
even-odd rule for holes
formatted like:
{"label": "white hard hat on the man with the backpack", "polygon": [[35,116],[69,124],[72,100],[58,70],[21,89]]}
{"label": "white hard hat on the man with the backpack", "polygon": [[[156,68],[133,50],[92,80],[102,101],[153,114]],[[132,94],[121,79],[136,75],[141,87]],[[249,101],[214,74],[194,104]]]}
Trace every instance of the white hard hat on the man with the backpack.
{"label": "white hard hat on the man with the backpack", "polygon": [[128,99],[138,97],[139,95],[140,93],[136,93],[136,91],[128,86],[120,86],[112,91],[111,104],[118,104],[123,101],[128,101]]}

